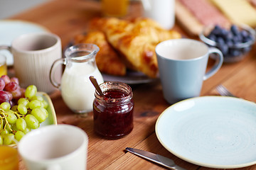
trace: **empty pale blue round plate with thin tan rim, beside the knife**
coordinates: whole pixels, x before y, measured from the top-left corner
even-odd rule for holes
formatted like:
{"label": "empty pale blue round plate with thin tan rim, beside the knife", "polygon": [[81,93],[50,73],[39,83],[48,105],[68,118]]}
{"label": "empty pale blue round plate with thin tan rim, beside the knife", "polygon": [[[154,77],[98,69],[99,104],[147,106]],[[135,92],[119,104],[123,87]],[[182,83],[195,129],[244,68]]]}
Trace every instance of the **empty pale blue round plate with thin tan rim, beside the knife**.
{"label": "empty pale blue round plate with thin tan rim, beside the knife", "polygon": [[178,102],[156,121],[156,136],[187,162],[218,169],[256,164],[256,103],[203,96]]}

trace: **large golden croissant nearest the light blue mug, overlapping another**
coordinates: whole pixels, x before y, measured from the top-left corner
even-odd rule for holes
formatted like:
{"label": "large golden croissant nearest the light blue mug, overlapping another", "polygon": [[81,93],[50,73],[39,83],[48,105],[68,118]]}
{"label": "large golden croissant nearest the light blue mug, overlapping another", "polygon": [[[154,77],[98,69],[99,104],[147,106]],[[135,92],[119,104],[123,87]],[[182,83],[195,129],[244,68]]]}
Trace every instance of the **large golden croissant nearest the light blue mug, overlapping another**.
{"label": "large golden croissant nearest the light blue mug, overlapping another", "polygon": [[181,38],[174,30],[164,30],[149,18],[125,21],[118,18],[95,18],[92,29],[105,33],[107,41],[118,50],[129,69],[157,77],[158,65],[155,47],[164,40]]}

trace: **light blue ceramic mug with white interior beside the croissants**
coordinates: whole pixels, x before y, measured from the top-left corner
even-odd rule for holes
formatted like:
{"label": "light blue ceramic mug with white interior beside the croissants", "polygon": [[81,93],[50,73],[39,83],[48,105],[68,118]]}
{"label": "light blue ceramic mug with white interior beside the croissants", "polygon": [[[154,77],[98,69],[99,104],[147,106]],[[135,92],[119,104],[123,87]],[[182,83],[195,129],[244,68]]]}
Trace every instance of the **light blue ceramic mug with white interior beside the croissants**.
{"label": "light blue ceramic mug with white interior beside the croissants", "polygon": [[[216,54],[215,64],[206,72],[212,53]],[[203,81],[223,64],[220,50],[186,38],[160,42],[156,45],[156,56],[164,98],[171,104],[200,96]]]}

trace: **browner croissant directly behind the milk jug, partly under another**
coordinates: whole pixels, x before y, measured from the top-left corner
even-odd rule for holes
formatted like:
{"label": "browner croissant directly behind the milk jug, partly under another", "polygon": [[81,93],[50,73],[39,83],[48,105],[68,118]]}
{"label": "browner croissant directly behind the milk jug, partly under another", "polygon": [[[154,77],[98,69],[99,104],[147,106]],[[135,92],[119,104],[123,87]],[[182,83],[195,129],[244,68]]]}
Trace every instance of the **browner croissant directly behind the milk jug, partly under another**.
{"label": "browner croissant directly behind the milk jug, partly under another", "polygon": [[75,44],[79,43],[93,43],[100,48],[95,57],[100,72],[116,76],[124,76],[126,74],[127,68],[124,62],[107,42],[105,34],[101,31],[91,31],[85,35],[76,35]]}

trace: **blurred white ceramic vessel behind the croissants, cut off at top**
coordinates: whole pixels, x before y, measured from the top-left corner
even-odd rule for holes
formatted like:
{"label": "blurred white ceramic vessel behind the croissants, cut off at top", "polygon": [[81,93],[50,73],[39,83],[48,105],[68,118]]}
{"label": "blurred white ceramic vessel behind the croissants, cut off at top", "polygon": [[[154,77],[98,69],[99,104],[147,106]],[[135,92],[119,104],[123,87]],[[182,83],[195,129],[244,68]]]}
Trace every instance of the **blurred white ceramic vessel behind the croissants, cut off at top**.
{"label": "blurred white ceramic vessel behind the croissants, cut off at top", "polygon": [[144,16],[152,18],[163,28],[171,29],[175,21],[175,0],[142,0]]}

